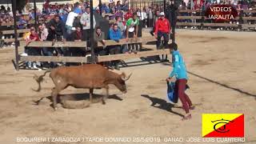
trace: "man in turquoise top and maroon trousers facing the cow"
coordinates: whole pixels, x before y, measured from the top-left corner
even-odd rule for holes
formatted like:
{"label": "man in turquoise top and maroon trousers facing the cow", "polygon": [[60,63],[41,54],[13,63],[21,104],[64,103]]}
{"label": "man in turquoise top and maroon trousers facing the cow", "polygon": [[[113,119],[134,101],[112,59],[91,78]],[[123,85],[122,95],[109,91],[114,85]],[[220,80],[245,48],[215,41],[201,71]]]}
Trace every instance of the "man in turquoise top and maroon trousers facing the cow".
{"label": "man in turquoise top and maroon trousers facing the cow", "polygon": [[186,65],[184,59],[182,58],[182,54],[178,51],[178,46],[176,43],[170,44],[170,48],[172,48],[172,58],[173,58],[173,70],[171,71],[169,78],[166,79],[167,82],[170,82],[171,78],[176,77],[175,82],[175,90],[178,90],[178,98],[182,102],[182,107],[186,111],[186,114],[182,120],[190,119],[192,116],[190,114],[190,110],[194,110],[194,106],[190,101],[188,95],[186,95],[186,82],[187,82],[187,73],[186,73]]}

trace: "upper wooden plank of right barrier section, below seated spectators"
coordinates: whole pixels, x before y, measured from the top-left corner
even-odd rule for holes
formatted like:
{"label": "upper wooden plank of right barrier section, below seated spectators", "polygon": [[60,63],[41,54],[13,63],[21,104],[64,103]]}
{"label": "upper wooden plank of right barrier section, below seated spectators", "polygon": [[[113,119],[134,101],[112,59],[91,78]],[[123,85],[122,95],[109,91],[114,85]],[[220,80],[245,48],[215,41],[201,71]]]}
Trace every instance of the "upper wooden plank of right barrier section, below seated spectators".
{"label": "upper wooden plank of right barrier section, below seated spectators", "polygon": [[[154,42],[156,38],[154,37],[143,37],[143,38],[129,38],[128,42],[126,42],[126,38],[120,39],[119,42],[115,42],[113,40],[106,40],[105,46],[117,46],[117,45],[125,45],[125,44],[132,44],[132,43],[142,43],[146,44],[147,42]],[[103,46],[102,42],[98,42],[98,46]]]}

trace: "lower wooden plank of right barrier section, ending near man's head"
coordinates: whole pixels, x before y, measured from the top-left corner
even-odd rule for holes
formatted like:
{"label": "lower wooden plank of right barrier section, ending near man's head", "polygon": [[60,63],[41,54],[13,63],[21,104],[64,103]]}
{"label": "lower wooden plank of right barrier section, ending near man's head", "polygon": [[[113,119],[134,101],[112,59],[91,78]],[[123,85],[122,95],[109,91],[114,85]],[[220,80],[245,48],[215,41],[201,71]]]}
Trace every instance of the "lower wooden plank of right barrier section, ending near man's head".
{"label": "lower wooden plank of right barrier section, ending near man's head", "polygon": [[169,49],[164,50],[147,50],[141,51],[137,54],[114,54],[114,55],[104,55],[98,56],[97,62],[108,62],[108,61],[115,61],[115,60],[125,60],[130,58],[141,58],[141,57],[149,57],[154,55],[161,55],[161,54],[170,54]]}

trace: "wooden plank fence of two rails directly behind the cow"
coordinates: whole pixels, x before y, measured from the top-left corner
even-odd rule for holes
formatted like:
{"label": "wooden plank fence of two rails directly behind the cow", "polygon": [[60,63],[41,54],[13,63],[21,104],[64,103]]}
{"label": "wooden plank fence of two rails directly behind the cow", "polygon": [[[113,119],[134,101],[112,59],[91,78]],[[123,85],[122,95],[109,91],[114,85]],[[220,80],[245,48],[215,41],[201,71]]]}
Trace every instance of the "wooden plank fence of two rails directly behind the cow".
{"label": "wooden plank fence of two rails directly behind the cow", "polygon": [[[122,46],[127,44],[142,43],[146,44],[148,42],[156,42],[154,37],[145,38],[129,38],[128,42],[126,39],[121,39],[119,42],[113,40],[106,40],[105,46]],[[55,42],[52,46],[52,42],[30,42],[26,45],[26,42],[20,42],[21,46],[29,46],[31,48],[42,48],[42,47],[62,47],[62,48],[86,48],[86,42]],[[102,46],[101,42],[98,42],[98,46]],[[107,62],[114,60],[124,60],[129,58],[140,58],[148,57],[160,54],[170,54],[169,49],[165,50],[146,50],[141,51],[138,54],[114,54],[98,56],[96,62]],[[31,62],[91,62],[90,57],[66,57],[66,56],[21,56],[19,55],[19,61],[31,61]]]}

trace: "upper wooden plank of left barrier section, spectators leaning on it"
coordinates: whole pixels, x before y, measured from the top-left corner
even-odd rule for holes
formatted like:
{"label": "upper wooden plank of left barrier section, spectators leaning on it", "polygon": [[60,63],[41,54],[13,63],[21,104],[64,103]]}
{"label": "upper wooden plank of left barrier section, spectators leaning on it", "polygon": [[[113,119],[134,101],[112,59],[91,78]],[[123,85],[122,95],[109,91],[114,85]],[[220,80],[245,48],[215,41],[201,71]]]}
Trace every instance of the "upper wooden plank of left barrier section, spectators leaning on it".
{"label": "upper wooden plank of left barrier section, spectators leaning on it", "polygon": [[[36,41],[36,42],[30,42],[27,46],[30,47],[87,47],[86,42],[54,42],[54,46],[52,46],[53,42],[50,41]],[[25,41],[20,42],[21,46],[26,46]]]}

